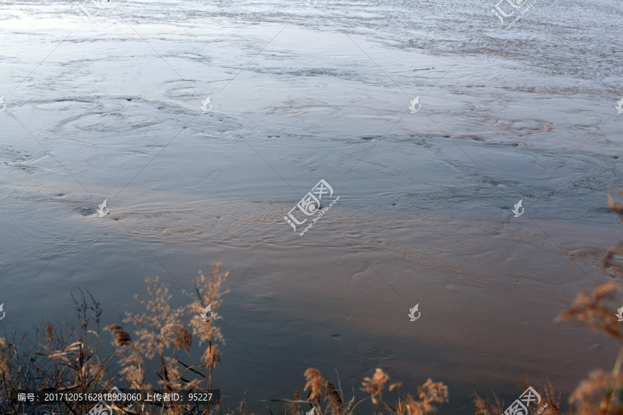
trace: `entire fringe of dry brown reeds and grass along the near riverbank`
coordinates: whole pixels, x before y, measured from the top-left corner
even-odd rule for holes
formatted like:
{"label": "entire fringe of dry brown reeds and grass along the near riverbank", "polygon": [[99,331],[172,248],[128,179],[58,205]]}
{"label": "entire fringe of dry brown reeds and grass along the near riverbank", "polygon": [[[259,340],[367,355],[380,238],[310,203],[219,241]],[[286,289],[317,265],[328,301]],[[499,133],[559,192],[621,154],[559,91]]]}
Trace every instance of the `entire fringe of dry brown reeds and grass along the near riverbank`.
{"label": "entire fringe of dry brown reeds and grass along the near riverbank", "polygon": [[[623,198],[623,192],[617,194]],[[623,203],[608,195],[608,205],[623,222]],[[602,271],[604,275],[623,275],[623,240],[606,253]],[[17,397],[18,389],[46,389],[64,391],[108,390],[113,385],[132,389],[150,389],[147,378],[155,379],[157,389],[188,389],[206,391],[213,387],[213,371],[222,362],[219,345],[224,336],[216,325],[217,310],[227,273],[219,272],[220,263],[208,264],[208,273],[201,271],[195,279],[195,290],[187,293],[191,300],[186,306],[172,308],[168,286],[158,277],[145,279],[147,297],[136,298],[145,306],[143,313],[127,313],[123,322],[107,326],[112,335],[115,353],[102,357],[100,340],[101,310],[98,302],[88,293],[80,291],[74,297],[78,324],[75,326],[52,324],[32,329],[27,333],[4,333],[0,338],[0,415],[39,415],[44,411],[50,415],[84,415],[92,405],[85,403],[59,403],[54,407],[33,407],[10,403]],[[569,398],[568,415],[623,415],[623,329],[616,317],[616,305],[621,304],[621,288],[617,279],[599,284],[591,292],[581,292],[559,320],[570,320],[605,333],[619,343],[621,351],[611,372],[594,371]],[[199,313],[212,304],[213,318],[201,320]],[[127,327],[127,329],[126,329]],[[199,362],[188,365],[193,347],[200,348]],[[116,358],[116,359],[114,359]],[[111,365],[120,367],[112,373]],[[390,383],[390,376],[377,368],[372,377],[364,378],[361,391],[367,397],[356,400],[353,391],[350,400],[345,400],[341,386],[336,387],[320,374],[309,368],[305,371],[306,384],[303,388],[307,398],[300,396],[296,388],[294,399],[278,400],[284,403],[283,415],[303,415],[314,408],[316,415],[354,415],[372,412],[374,415],[433,415],[437,414],[435,404],[449,399],[448,388],[430,378],[417,387],[415,394],[401,393],[401,383]],[[527,382],[521,387],[525,389]],[[123,385],[125,384],[125,385]],[[560,396],[548,384],[537,389],[546,404],[541,415],[560,415]],[[393,396],[388,403],[387,396]],[[500,415],[507,405],[494,394],[492,400],[478,394],[473,395],[475,415]],[[366,405],[368,409],[366,408]],[[305,408],[305,409],[304,409]],[[115,408],[117,413],[122,408]],[[538,408],[531,407],[536,414]],[[134,405],[126,414],[141,415],[199,415],[226,414],[246,415],[246,400],[240,399],[233,409],[222,409],[218,405],[154,406]]]}

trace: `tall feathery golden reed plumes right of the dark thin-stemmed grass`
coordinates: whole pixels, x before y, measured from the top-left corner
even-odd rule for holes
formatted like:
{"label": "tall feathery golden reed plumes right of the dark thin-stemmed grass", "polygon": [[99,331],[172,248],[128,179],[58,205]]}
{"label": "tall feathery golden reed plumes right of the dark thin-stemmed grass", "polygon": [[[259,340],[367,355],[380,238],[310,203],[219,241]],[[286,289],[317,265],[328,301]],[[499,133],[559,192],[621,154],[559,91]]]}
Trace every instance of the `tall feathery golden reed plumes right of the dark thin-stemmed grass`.
{"label": "tall feathery golden reed plumes right of the dark thin-stemmed grass", "polygon": [[[192,302],[187,306],[171,308],[168,286],[159,283],[158,277],[147,278],[146,289],[150,298],[136,296],[147,311],[145,313],[126,313],[124,324],[136,327],[134,335],[118,324],[106,329],[114,335],[113,344],[120,356],[122,370],[120,376],[134,389],[151,389],[145,380],[145,367],[154,363],[160,389],[167,391],[188,390],[194,392],[208,391],[213,385],[213,369],[220,364],[221,358],[218,343],[224,344],[221,331],[213,324],[218,317],[216,309],[221,304],[221,297],[228,293],[221,286],[228,273],[219,273],[220,261],[208,264],[208,275],[199,271],[195,279],[195,292],[187,293]],[[213,317],[207,322],[201,319],[201,311],[211,304]],[[185,317],[189,317],[186,320]],[[186,365],[180,360],[180,354],[188,355],[192,347],[192,336],[196,336],[199,345],[206,344],[198,365]],[[207,369],[203,374],[201,369]],[[240,410],[246,410],[240,406]],[[137,414],[211,414],[218,409],[215,405],[163,405],[154,408],[151,404],[141,404],[133,409]],[[130,412],[132,413],[132,412]]]}

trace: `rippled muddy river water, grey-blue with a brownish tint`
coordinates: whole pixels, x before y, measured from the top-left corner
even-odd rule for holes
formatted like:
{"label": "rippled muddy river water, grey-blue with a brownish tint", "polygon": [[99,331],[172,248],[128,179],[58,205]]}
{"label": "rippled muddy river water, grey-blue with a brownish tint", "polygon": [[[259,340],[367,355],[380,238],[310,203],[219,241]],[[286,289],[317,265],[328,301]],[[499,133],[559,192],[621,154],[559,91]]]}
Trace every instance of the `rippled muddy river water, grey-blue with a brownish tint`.
{"label": "rippled muddy river water, grey-blue with a brownish tint", "polygon": [[[568,394],[613,365],[554,318],[621,233],[620,2],[512,28],[475,0],[80,4],[0,3],[6,329],[71,318],[78,288],[113,324],[154,275],[183,304],[219,257],[228,405],[382,367],[466,414],[473,390]],[[284,216],[320,179],[340,199],[299,236]]]}

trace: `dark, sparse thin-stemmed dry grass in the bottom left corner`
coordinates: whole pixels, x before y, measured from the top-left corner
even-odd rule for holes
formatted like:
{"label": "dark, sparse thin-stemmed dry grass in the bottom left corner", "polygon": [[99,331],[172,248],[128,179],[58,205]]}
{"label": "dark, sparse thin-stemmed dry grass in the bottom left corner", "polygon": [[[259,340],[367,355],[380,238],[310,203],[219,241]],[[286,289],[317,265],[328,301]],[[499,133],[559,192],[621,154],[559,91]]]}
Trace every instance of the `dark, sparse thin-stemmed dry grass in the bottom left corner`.
{"label": "dark, sparse thin-stemmed dry grass in the bottom left corner", "polygon": [[101,358],[99,303],[80,290],[73,295],[78,315],[76,326],[46,322],[23,335],[4,332],[0,338],[0,414],[86,414],[89,405],[60,402],[55,405],[15,403],[18,389],[37,391],[91,391],[109,385],[107,367],[110,358]]}

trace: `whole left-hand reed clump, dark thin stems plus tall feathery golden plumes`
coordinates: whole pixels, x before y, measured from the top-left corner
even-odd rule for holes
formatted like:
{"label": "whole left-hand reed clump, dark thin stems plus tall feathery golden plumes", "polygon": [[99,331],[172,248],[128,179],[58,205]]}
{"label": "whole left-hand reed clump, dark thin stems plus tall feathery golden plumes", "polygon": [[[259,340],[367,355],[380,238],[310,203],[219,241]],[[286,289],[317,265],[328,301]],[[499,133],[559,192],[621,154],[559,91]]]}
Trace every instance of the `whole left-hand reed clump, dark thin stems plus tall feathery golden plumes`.
{"label": "whole left-hand reed clump, dark thin stems plus tall feathery golden plumes", "polygon": [[[4,333],[0,338],[0,415],[86,415],[94,403],[62,402],[55,405],[33,406],[15,403],[18,389],[37,391],[109,391],[118,382],[125,381],[131,389],[152,389],[147,377],[152,368],[157,376],[158,389],[169,391],[187,389],[201,393],[212,387],[213,369],[221,358],[217,344],[224,343],[222,333],[214,325],[218,317],[202,322],[199,313],[204,306],[212,304],[218,308],[221,297],[227,291],[222,284],[227,273],[219,273],[219,261],[208,264],[208,274],[199,272],[195,279],[193,300],[187,306],[172,308],[168,286],[158,277],[147,278],[147,298],[136,296],[145,305],[144,313],[126,313],[124,325],[133,326],[126,330],[121,324],[105,329],[113,335],[113,344],[118,356],[120,371],[111,374],[111,359],[101,358],[99,303],[90,295],[75,298],[78,324],[66,327],[48,322],[33,329],[33,339],[19,338],[16,334]],[[72,296],[73,297],[73,296]],[[200,362],[186,365],[181,355],[190,353],[192,336],[199,345],[206,344]],[[202,373],[204,369],[207,374]],[[118,385],[123,387],[123,385]],[[215,405],[162,405],[141,404],[121,408],[111,404],[116,414],[141,415],[199,415],[220,414]],[[244,398],[233,412],[246,415]],[[112,415],[112,414],[111,414]]]}

